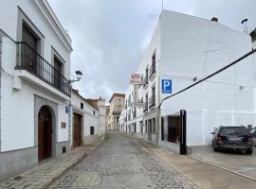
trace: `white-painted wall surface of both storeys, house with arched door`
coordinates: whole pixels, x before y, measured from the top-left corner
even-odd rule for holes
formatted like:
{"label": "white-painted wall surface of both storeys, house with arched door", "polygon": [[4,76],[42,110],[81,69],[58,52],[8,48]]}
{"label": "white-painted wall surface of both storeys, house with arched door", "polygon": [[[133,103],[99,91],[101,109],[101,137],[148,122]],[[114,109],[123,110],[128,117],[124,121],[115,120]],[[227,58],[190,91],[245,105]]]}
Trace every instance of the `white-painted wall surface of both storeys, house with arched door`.
{"label": "white-painted wall surface of both storeys, house with arched door", "polygon": [[[51,62],[52,46],[65,60],[64,77],[70,77],[70,49],[64,43],[54,24],[46,19],[38,1],[0,1],[0,29],[6,32],[14,41],[17,39],[18,7],[24,11],[31,22],[45,36],[42,45],[42,56]],[[8,21],[8,22],[7,22]],[[21,31],[18,31],[21,32]],[[61,129],[61,122],[68,123],[68,114],[64,111],[67,102],[54,98],[51,94],[41,92],[22,82],[19,92],[12,91],[12,78],[16,65],[16,46],[8,38],[3,38],[2,66],[6,73],[1,76],[1,151],[9,151],[19,148],[34,146],[34,95],[46,98],[58,104],[57,141],[68,141],[68,128]],[[42,81],[44,83],[44,81]],[[45,83],[45,85],[47,85]],[[13,140],[15,138],[15,140]]]}

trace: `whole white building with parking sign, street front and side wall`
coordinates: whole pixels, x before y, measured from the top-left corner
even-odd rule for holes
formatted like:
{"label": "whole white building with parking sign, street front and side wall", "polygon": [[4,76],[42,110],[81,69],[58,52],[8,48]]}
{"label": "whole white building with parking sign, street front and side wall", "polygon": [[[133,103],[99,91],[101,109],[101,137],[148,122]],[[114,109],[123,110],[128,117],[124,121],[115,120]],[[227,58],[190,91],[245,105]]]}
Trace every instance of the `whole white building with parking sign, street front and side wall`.
{"label": "whole white building with parking sign, street front and side wall", "polygon": [[[119,126],[154,144],[179,148],[179,112],[187,112],[187,146],[210,145],[210,132],[220,126],[256,125],[255,57],[250,56],[192,89],[163,101],[164,79],[172,80],[172,94],[209,76],[252,48],[247,33],[218,22],[163,10],[137,74],[143,85],[137,90],[143,108],[133,104],[130,85],[126,109]],[[131,97],[129,97],[131,96]],[[134,114],[136,116],[131,116]],[[175,121],[175,116],[177,121]]]}

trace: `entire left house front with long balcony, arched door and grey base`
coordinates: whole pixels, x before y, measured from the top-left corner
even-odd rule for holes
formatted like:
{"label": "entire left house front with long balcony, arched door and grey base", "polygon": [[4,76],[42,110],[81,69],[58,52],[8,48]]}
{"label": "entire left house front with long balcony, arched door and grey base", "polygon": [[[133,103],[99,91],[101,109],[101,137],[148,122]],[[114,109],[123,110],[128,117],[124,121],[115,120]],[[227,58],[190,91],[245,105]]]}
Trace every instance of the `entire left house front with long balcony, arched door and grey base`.
{"label": "entire left house front with long balcony, arched door and grey base", "polygon": [[69,144],[71,40],[46,0],[0,2],[0,180]]}

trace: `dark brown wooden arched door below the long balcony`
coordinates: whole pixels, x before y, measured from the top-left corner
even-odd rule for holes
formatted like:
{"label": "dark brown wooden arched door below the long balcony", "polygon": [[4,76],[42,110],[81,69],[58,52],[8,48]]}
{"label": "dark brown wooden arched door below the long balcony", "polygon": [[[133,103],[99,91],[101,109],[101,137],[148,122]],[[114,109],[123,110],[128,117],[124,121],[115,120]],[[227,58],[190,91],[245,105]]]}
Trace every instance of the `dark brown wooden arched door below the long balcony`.
{"label": "dark brown wooden arched door below the long balcony", "polygon": [[52,155],[52,116],[46,106],[38,113],[38,161],[44,161]]}

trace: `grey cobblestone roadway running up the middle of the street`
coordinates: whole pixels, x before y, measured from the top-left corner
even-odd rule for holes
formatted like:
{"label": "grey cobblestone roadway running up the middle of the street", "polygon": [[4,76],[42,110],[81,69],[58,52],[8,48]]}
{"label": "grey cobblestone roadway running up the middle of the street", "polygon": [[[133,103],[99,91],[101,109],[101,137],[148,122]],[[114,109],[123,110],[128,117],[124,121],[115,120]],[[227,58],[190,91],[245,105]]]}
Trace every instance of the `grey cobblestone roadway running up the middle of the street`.
{"label": "grey cobblestone roadway running up the middle of the street", "polygon": [[48,189],[196,188],[135,138],[110,133],[108,141]]}

